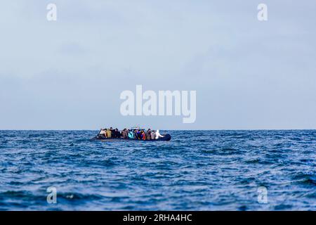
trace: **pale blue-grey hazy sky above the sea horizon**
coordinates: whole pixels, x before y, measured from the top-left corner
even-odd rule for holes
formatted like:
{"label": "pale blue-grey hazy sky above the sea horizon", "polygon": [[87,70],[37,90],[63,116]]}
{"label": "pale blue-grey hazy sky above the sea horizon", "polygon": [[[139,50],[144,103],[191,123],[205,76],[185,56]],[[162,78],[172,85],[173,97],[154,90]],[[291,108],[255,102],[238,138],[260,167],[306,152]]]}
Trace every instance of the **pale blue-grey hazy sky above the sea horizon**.
{"label": "pale blue-grey hazy sky above the sea horizon", "polygon": [[[57,6],[48,21],[46,6]],[[268,20],[257,18],[258,4]],[[316,1],[1,1],[0,129],[316,129]],[[197,91],[197,117],[122,91]]]}

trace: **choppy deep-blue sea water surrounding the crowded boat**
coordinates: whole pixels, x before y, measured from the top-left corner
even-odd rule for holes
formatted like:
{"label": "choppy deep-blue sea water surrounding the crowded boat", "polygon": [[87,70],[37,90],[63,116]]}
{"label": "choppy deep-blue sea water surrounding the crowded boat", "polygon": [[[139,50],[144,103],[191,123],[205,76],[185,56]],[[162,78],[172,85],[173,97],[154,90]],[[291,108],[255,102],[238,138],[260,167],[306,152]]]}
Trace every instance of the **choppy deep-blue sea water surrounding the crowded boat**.
{"label": "choppy deep-blue sea water surrounding the crowded boat", "polygon": [[315,130],[169,133],[106,143],[88,141],[96,131],[0,131],[0,210],[316,210]]}

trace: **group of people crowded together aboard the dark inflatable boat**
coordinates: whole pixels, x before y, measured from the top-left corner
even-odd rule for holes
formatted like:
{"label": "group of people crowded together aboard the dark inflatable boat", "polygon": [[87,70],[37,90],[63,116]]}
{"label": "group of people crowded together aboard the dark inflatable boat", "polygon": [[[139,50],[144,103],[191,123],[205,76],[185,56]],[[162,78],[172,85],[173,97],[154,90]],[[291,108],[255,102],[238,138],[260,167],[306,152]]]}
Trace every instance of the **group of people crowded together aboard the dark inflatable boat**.
{"label": "group of people crowded together aboard the dark inflatable boat", "polygon": [[159,134],[159,129],[157,131],[147,129],[145,131],[144,129],[123,129],[122,131],[119,131],[119,129],[100,129],[100,132],[98,136],[107,138],[107,139],[139,139],[139,140],[154,140],[163,138],[161,134]]}

